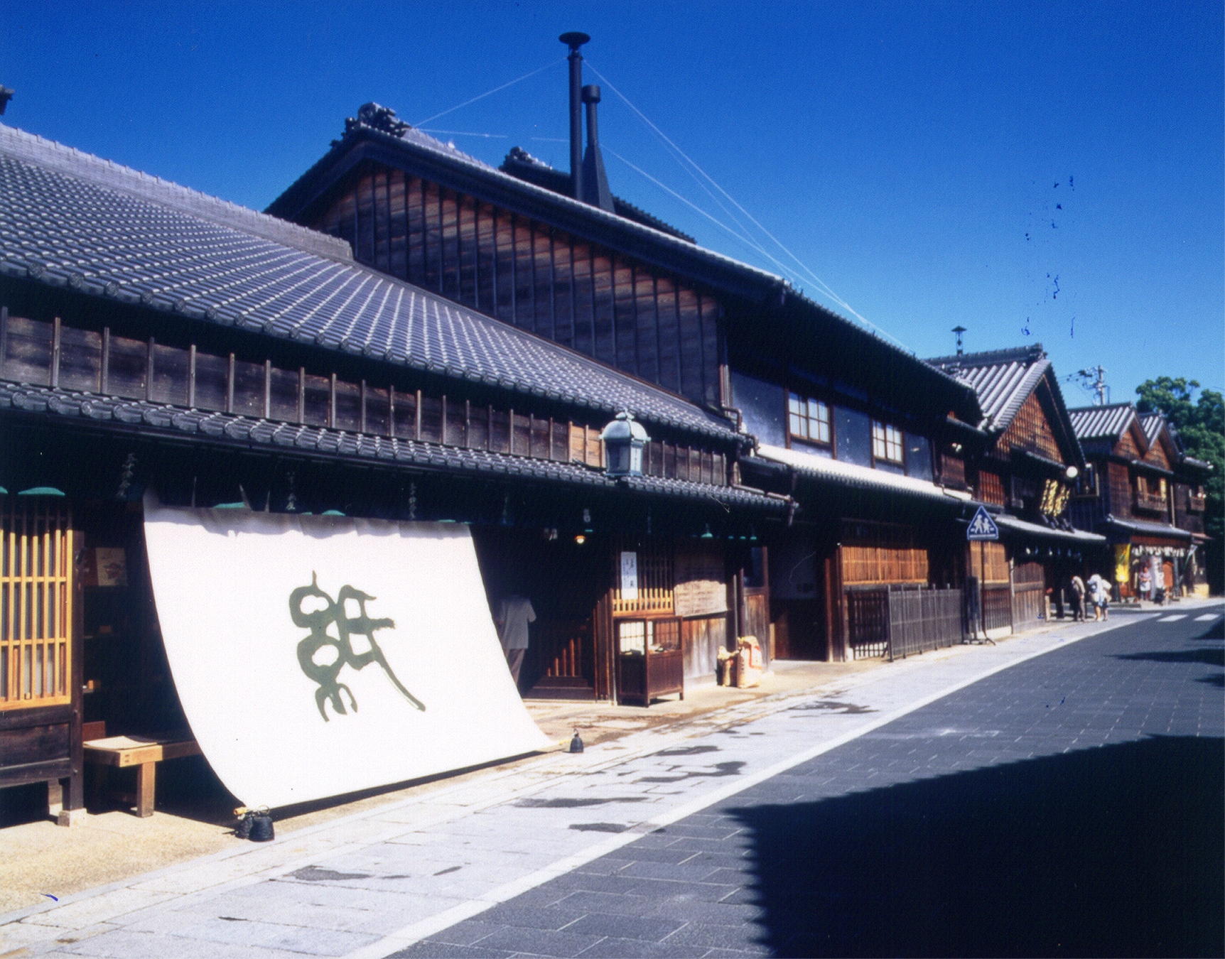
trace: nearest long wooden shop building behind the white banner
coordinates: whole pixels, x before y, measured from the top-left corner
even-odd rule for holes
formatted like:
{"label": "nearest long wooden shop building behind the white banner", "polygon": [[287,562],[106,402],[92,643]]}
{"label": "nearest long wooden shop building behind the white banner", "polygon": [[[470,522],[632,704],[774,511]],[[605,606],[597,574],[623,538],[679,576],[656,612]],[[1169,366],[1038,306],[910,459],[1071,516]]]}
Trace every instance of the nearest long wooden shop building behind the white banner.
{"label": "nearest long wooden shop building behind the white banner", "polygon": [[[682,396],[345,240],[2,126],[0,223],[0,786],[64,780],[80,807],[83,724],[184,724],[146,492],[469,524],[488,599],[538,611],[523,688],[641,693],[621,650],[659,653],[659,688],[713,672],[735,571],[793,503],[740,484],[750,441],[704,401],[701,350]],[[641,475],[609,472],[624,413]]]}

